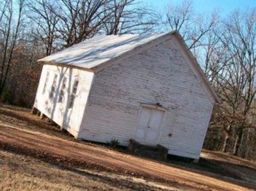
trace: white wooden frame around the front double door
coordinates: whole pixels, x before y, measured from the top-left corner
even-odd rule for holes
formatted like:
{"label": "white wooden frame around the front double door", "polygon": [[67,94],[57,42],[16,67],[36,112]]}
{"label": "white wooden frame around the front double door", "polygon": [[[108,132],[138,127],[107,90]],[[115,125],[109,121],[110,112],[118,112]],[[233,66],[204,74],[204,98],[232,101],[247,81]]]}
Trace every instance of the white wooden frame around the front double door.
{"label": "white wooden frame around the front double door", "polygon": [[157,137],[157,141],[156,141],[156,145],[157,145],[157,144],[159,144],[159,139],[160,139],[160,136],[161,136],[161,132],[163,130],[163,122],[165,121],[166,112],[169,109],[166,108],[166,107],[162,107],[162,106],[156,105],[156,104],[141,103],[140,104],[140,109],[139,109],[139,112],[138,112],[138,117],[136,119],[136,123],[135,123],[134,129],[133,129],[133,132],[132,132],[132,139],[134,139],[134,137],[135,137],[136,128],[138,127],[138,124],[140,122],[140,115],[141,115],[141,110],[143,109],[143,107],[148,107],[150,109],[156,109],[156,110],[164,112],[163,119],[162,119],[162,121],[161,121],[161,123],[159,125],[159,132],[157,134],[157,136],[158,136]]}

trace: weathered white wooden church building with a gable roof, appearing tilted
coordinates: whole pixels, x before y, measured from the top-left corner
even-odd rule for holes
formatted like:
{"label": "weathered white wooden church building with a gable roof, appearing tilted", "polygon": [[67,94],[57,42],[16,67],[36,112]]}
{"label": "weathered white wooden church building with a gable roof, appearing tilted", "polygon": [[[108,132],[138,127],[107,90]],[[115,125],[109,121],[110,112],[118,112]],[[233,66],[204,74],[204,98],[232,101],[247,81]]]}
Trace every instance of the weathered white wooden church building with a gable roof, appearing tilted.
{"label": "weathered white wooden church building with a gable roof, appearing tilted", "polygon": [[97,36],[39,61],[34,107],[74,137],[200,157],[219,98],[176,31]]}

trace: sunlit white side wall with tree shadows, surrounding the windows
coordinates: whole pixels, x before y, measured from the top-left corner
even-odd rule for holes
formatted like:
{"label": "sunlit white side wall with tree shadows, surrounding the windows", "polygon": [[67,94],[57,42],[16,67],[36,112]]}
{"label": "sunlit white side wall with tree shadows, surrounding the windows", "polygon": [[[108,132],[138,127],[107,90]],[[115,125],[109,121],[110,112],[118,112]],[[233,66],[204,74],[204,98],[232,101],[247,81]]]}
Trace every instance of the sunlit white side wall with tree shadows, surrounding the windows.
{"label": "sunlit white side wall with tree shadows, surrounding the windows", "polygon": [[[46,84],[47,86],[45,87],[45,93],[43,93],[47,71],[49,71],[49,80]],[[55,73],[58,75],[56,84],[57,91],[54,94],[54,97],[50,99],[49,93],[51,91],[52,80]],[[60,95],[62,83],[62,78],[60,77],[63,75],[67,77],[67,86],[64,91],[65,95],[63,102],[59,103],[58,96]],[[79,80],[79,84],[77,87],[74,105],[71,109],[69,109],[68,105],[75,79]],[[55,123],[68,130],[70,134],[77,137],[81,120],[83,119],[84,108],[86,107],[92,80],[92,72],[63,66],[44,65],[36,93],[34,107],[43,112],[48,118],[51,118]]]}

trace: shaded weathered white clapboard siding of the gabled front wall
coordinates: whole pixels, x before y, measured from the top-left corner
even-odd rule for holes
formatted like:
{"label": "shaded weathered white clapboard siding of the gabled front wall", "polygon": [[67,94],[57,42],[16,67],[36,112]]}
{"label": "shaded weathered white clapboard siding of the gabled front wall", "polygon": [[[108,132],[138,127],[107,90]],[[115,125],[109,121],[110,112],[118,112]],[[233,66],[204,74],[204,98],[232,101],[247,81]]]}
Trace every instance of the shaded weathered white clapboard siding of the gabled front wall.
{"label": "shaded weathered white clapboard siding of the gabled front wall", "polygon": [[212,102],[177,43],[172,38],[95,74],[78,137],[127,146],[141,103],[160,103],[167,111],[159,144],[199,158]]}

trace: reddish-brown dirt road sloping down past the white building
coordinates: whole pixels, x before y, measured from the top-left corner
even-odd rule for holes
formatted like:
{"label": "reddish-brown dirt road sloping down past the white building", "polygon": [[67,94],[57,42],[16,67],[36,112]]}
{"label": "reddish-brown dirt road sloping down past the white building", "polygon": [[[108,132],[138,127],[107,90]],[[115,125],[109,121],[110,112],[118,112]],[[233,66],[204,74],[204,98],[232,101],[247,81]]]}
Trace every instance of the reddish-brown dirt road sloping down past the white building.
{"label": "reddish-brown dirt road sloping down past the white building", "polygon": [[[52,163],[115,172],[161,181],[182,190],[253,190],[255,185],[202,171],[189,171],[171,164],[134,157],[88,144],[63,140],[7,125],[0,125],[0,148]],[[183,189],[184,188],[184,189]]]}

